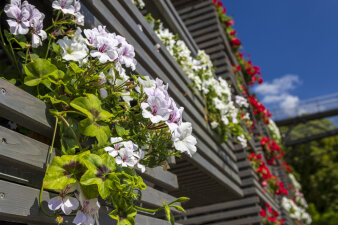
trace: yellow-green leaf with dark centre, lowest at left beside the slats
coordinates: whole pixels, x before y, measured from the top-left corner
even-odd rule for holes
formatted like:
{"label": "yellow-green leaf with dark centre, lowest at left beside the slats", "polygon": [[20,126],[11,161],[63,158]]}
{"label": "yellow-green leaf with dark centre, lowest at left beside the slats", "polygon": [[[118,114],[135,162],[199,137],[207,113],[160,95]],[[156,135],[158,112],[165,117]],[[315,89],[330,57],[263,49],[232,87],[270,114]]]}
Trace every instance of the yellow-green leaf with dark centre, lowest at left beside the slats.
{"label": "yellow-green leaf with dark centre, lowest at left beside the slats", "polygon": [[43,187],[54,190],[64,189],[68,184],[79,181],[86,171],[86,167],[80,162],[79,157],[88,153],[89,151],[81,155],[54,157],[43,179]]}

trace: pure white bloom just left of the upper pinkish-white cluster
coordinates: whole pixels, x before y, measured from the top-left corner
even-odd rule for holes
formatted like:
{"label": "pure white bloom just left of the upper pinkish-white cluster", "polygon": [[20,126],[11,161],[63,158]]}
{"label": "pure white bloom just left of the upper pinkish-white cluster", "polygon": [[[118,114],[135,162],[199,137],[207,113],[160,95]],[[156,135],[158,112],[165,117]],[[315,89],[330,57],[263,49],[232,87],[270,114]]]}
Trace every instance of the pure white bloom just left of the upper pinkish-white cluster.
{"label": "pure white bloom just left of the upper pinkish-white cluster", "polygon": [[76,39],[69,39],[65,36],[57,41],[62,49],[62,58],[67,61],[80,62],[88,55],[88,48],[85,44],[77,42]]}

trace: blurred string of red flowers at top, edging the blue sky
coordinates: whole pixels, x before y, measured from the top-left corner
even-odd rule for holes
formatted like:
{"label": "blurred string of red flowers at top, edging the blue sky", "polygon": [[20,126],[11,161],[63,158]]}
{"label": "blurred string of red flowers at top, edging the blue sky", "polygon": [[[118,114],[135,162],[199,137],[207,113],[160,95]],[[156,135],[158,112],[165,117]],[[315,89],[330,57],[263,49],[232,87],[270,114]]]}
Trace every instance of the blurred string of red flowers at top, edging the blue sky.
{"label": "blurred string of red flowers at top, edging the blue sky", "polygon": [[234,73],[241,71],[244,74],[245,82],[247,84],[253,85],[255,82],[261,84],[263,79],[261,77],[262,73],[258,66],[252,64],[251,60],[246,60],[243,57],[243,54],[239,52],[239,49],[242,47],[242,42],[238,37],[236,37],[237,32],[232,27],[234,20],[232,17],[226,15],[226,8],[223,6],[223,3],[219,0],[213,0],[213,3],[216,7],[219,20],[223,24],[224,30],[227,34],[229,42],[232,47],[232,51],[236,56],[238,61],[238,66],[233,66]]}

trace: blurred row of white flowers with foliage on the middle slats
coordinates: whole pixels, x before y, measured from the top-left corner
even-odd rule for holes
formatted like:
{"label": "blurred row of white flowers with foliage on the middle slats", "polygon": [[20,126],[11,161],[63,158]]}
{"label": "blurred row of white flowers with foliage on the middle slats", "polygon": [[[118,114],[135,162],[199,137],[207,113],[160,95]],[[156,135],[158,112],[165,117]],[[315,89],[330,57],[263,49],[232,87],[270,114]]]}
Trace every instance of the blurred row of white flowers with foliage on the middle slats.
{"label": "blurred row of white flowers with foliage on the middle slats", "polygon": [[248,107],[247,100],[241,96],[232,99],[231,89],[223,78],[216,79],[213,74],[213,65],[209,56],[204,51],[199,51],[196,58],[183,42],[163,27],[160,21],[155,21],[151,15],[146,19],[152,25],[162,43],[170,54],[179,63],[182,70],[192,81],[192,86],[197,89],[206,102],[206,117],[213,129],[217,129],[221,137],[229,135],[235,137],[243,147],[247,146],[247,137],[241,127],[241,120],[248,121],[248,116],[242,117],[242,109]]}

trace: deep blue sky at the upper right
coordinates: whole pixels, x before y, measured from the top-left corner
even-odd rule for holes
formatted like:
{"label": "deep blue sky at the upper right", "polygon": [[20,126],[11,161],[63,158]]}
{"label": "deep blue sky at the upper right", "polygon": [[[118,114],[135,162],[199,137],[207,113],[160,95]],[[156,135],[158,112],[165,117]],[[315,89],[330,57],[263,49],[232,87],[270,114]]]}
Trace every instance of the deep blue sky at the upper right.
{"label": "deep blue sky at the upper right", "polygon": [[338,0],[222,1],[244,52],[262,69],[260,99],[338,92]]}

